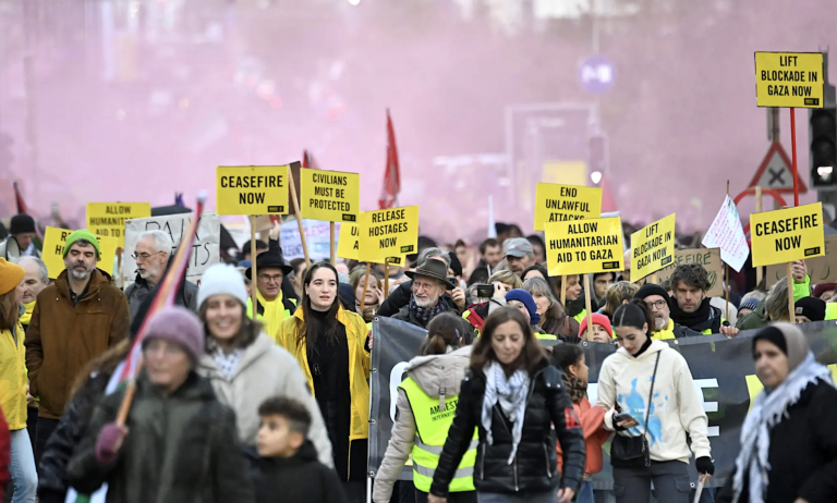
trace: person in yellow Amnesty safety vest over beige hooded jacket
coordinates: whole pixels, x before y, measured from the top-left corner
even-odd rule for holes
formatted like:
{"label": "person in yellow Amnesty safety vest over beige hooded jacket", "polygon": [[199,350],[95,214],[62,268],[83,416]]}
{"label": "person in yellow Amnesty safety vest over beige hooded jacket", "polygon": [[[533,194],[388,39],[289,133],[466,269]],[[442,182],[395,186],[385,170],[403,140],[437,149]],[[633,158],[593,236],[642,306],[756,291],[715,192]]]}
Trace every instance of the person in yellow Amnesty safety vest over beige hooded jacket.
{"label": "person in yellow Amnesty safety vest over beige hooded jacket", "polygon": [[[459,389],[468,370],[471,346],[464,346],[461,321],[452,312],[430,320],[418,356],[408,365],[398,387],[392,439],[375,476],[374,503],[389,502],[392,487],[412,458],[416,503],[425,503],[439,453],[448,438],[459,402]],[[448,503],[476,503],[473,470],[478,435],[462,457],[450,484]]]}

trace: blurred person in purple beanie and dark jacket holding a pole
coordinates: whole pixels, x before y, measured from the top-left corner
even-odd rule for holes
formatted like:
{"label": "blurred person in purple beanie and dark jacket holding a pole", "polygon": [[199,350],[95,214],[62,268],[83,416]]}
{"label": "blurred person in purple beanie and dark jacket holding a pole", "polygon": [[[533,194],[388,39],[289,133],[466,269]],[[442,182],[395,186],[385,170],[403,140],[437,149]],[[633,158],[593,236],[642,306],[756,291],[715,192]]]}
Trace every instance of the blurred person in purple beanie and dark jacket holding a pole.
{"label": "blurred person in purple beanie and dark jacket holding a pole", "polygon": [[253,502],[235,415],[195,372],[204,353],[198,318],[181,307],[161,309],[142,348],[145,368],[125,424],[116,422],[122,389],[96,407],[68,481],[82,493],[107,483],[109,503]]}

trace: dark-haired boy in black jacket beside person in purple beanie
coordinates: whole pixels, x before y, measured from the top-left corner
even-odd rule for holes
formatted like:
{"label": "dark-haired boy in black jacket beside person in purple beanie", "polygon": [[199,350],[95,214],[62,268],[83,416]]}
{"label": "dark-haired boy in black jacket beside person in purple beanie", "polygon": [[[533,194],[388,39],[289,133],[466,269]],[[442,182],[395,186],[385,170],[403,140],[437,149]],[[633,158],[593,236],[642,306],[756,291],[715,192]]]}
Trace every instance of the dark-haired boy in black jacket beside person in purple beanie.
{"label": "dark-haired boy in black jacket beside person in purple beanie", "polygon": [[345,503],[337,473],[317,461],[307,439],[311,415],[292,398],[275,396],[258,407],[256,503]]}

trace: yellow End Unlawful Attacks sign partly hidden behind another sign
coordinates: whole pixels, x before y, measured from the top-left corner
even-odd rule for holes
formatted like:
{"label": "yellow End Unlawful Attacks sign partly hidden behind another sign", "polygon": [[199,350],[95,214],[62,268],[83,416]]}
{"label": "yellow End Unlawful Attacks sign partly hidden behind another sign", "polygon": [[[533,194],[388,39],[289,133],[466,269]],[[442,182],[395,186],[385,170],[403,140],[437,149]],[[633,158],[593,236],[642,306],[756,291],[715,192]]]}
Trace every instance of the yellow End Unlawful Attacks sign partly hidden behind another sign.
{"label": "yellow End Unlawful Attacks sign partly hidden behind another sign", "polygon": [[597,219],[602,214],[602,189],[538,183],[535,188],[535,231],[545,224]]}

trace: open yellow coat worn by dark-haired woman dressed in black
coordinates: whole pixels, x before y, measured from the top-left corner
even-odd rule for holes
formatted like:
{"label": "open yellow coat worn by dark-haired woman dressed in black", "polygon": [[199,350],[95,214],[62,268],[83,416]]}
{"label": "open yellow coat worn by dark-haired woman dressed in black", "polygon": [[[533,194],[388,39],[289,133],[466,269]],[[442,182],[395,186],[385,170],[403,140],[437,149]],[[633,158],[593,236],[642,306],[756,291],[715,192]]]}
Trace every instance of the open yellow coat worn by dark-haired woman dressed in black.
{"label": "open yellow coat worn by dark-haired woman dressed in black", "polygon": [[[366,353],[366,322],[360,315],[349,312],[340,306],[337,320],[345,327],[349,343],[349,391],[352,394],[352,419],[349,427],[349,440],[369,438],[369,368],[372,356]],[[305,322],[302,309],[286,318],[279,327],[276,342],[290,352],[302,367],[308,389],[314,394],[314,379],[308,368],[308,353],[305,339],[300,340],[300,332]]]}

